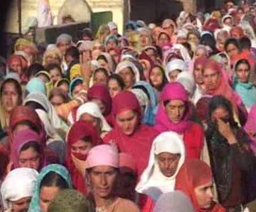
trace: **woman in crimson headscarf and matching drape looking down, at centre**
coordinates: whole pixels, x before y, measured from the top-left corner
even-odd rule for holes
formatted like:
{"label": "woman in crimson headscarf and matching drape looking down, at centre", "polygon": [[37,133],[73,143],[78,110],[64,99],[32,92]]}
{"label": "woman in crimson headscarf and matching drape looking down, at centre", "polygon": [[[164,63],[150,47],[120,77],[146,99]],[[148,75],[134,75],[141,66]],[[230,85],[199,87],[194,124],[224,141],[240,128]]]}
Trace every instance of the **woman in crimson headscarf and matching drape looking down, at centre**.
{"label": "woman in crimson headscarf and matching drape looking down, at centre", "polygon": [[140,174],[147,165],[151,144],[158,133],[141,123],[140,105],[133,93],[121,91],[114,97],[112,105],[115,127],[106,134],[104,143],[114,143],[120,152],[136,158]]}

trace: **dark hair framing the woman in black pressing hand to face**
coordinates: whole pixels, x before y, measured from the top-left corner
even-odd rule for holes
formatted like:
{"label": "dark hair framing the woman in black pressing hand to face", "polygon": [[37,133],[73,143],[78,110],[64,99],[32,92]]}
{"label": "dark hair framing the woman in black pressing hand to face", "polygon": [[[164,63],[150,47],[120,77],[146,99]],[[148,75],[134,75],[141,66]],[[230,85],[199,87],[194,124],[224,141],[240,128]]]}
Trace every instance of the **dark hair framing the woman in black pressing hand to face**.
{"label": "dark hair framing the woman in black pressing hand to face", "polygon": [[208,114],[208,117],[207,117],[208,125],[211,125],[211,123],[212,123],[212,120],[211,120],[212,113],[217,108],[224,108],[228,112],[228,114],[229,114],[229,120],[228,120],[229,125],[231,125],[232,127],[236,127],[237,126],[237,123],[236,123],[236,121],[234,121],[234,118],[233,118],[233,107],[232,107],[231,101],[229,101],[223,95],[216,95],[216,96],[213,96],[211,98],[211,100],[209,102],[209,105],[208,105],[208,111],[207,111],[207,114]]}

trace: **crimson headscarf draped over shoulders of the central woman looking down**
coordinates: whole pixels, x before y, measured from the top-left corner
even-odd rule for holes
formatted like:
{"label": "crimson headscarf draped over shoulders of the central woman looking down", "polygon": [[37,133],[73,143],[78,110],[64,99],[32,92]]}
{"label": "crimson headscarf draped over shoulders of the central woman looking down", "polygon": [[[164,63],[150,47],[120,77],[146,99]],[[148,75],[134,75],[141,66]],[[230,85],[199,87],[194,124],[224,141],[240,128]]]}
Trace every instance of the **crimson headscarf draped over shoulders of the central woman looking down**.
{"label": "crimson headscarf draped over shoulders of the central woman looking down", "polygon": [[136,96],[130,91],[121,91],[114,96],[113,116],[116,118],[118,113],[133,110],[138,114],[138,125],[131,135],[123,134],[118,125],[104,137],[104,143],[115,142],[119,151],[128,153],[136,159],[138,174],[142,173],[147,166],[150,156],[150,149],[153,139],[158,132],[152,127],[141,123],[141,109]]}

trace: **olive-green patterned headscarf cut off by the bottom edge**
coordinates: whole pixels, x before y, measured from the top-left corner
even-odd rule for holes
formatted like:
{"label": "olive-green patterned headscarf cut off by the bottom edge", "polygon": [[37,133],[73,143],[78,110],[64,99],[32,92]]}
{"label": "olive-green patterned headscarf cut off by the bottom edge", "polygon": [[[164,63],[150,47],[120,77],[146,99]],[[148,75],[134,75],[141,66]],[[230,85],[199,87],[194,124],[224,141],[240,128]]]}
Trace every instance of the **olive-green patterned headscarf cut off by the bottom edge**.
{"label": "olive-green patterned headscarf cut off by the bottom edge", "polygon": [[92,206],[82,193],[65,189],[50,202],[49,212],[92,212]]}

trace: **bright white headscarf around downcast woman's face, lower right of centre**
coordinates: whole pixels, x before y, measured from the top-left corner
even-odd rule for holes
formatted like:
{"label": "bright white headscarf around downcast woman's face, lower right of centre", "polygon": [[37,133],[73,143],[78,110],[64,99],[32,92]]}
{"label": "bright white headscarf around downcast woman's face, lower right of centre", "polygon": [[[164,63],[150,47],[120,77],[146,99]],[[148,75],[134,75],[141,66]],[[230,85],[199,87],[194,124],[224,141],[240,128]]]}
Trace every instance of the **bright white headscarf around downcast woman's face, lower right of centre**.
{"label": "bright white headscarf around downcast woman's face, lower right of centre", "polygon": [[[163,152],[181,155],[177,170],[173,176],[167,177],[161,173],[157,155]],[[171,131],[161,133],[153,141],[148,166],[140,176],[136,191],[150,196],[154,201],[156,201],[162,193],[174,191],[175,179],[184,161],[185,146],[180,135]]]}

